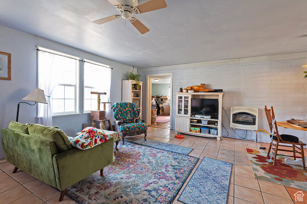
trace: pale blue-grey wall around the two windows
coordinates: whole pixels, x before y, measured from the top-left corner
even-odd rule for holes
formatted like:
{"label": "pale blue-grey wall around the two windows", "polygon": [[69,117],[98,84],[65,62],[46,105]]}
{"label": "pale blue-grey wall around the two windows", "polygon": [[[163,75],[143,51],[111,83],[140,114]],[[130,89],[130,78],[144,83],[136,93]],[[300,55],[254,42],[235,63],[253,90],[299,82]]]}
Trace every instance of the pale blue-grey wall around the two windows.
{"label": "pale blue-grey wall around the two windows", "polygon": [[[77,57],[97,61],[110,65],[111,78],[111,102],[122,101],[122,80],[127,79],[127,72],[131,67],[123,65],[103,57],[86,53],[59,43],[28,35],[10,28],[0,26],[0,51],[11,54],[12,80],[0,80],[0,129],[8,128],[11,121],[16,120],[18,102],[28,95],[33,88],[37,88],[37,50],[36,46],[42,46]],[[80,87],[83,87],[83,63],[80,63]],[[80,90],[80,111],[83,111],[83,89]],[[35,123],[37,117],[37,105],[29,106],[21,104],[19,119],[21,123]],[[113,123],[113,116],[111,116]],[[58,125],[68,136],[74,136],[82,130],[82,124],[91,126],[90,114],[60,116],[52,118],[53,125]],[[97,124],[98,125],[98,124]],[[0,134],[0,136],[2,136]],[[2,144],[0,144],[0,159],[4,158]]]}

